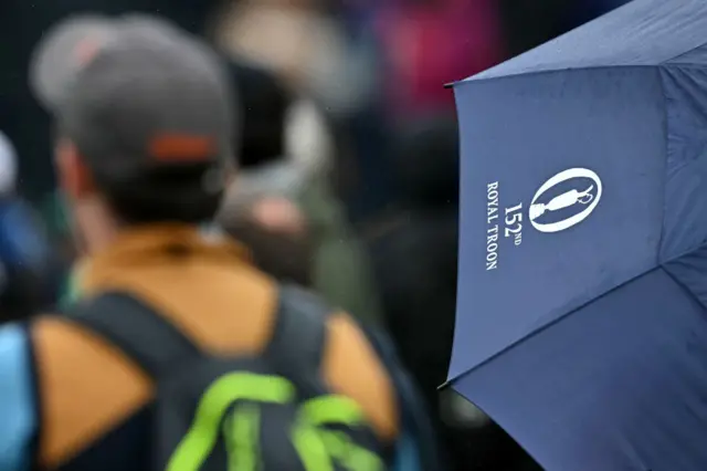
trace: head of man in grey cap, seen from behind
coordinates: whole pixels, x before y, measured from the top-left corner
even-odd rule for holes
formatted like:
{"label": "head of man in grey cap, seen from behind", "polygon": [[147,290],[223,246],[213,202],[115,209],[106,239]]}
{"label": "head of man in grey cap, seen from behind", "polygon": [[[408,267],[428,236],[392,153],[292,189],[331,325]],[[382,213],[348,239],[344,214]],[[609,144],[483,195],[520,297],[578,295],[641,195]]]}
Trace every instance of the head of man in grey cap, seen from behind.
{"label": "head of man in grey cap, seen from behind", "polygon": [[81,236],[213,217],[236,126],[205,45],[149,17],[76,17],[44,36],[31,76],[55,121],[57,172]]}

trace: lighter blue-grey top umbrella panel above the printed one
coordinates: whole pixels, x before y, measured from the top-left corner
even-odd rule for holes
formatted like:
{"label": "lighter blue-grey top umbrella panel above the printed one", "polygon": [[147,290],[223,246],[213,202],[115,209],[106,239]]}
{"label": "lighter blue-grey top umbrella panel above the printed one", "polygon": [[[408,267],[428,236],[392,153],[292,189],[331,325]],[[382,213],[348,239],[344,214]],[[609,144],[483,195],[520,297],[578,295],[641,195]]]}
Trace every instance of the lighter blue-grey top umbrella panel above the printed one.
{"label": "lighter blue-grey top umbrella panel above the printed one", "polygon": [[[468,80],[530,72],[620,65],[657,65],[707,43],[704,0],[634,0],[619,9]],[[687,59],[689,56],[689,59]]]}

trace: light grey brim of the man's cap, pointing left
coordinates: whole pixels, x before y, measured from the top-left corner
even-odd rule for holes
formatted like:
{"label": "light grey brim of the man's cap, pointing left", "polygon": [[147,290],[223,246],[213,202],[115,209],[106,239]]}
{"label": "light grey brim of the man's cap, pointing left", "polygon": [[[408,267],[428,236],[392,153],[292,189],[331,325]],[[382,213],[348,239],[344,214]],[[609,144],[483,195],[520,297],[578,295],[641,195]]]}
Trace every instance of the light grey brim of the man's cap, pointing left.
{"label": "light grey brim of the man's cap, pointing left", "polygon": [[114,35],[114,21],[101,15],[71,17],[50,29],[30,62],[30,84],[42,105],[54,111],[82,66]]}

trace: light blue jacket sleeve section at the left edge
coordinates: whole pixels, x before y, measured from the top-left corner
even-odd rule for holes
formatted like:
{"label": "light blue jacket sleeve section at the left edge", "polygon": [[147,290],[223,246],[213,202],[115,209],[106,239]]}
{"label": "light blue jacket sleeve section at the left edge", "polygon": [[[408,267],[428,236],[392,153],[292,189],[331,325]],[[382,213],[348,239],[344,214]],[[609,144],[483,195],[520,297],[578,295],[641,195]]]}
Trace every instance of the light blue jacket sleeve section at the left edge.
{"label": "light blue jacket sleeve section at the left edge", "polygon": [[31,442],[36,430],[32,355],[27,328],[0,327],[0,469],[30,467]]}

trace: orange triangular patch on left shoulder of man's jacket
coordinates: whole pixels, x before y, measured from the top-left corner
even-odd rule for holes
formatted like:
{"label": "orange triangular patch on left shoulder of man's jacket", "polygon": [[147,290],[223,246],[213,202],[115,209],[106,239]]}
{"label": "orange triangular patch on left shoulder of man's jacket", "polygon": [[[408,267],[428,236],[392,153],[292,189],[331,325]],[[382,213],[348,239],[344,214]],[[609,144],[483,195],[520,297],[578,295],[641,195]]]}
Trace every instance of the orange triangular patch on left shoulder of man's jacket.
{"label": "orange triangular patch on left shoulder of man's jacket", "polygon": [[151,381],[134,363],[66,318],[39,317],[31,336],[42,386],[41,464],[63,463],[150,400]]}

